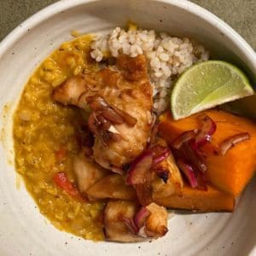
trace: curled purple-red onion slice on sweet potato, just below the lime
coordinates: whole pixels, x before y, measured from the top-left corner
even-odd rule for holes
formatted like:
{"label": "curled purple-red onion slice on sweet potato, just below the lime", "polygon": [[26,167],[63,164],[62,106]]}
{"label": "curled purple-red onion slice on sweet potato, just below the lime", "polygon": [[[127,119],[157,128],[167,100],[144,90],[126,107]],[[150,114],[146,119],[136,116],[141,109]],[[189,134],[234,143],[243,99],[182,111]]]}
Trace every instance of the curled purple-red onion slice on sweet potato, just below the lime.
{"label": "curled purple-red onion slice on sweet potato, just below the lime", "polygon": [[216,124],[207,114],[201,114],[199,119],[201,120],[201,128],[195,137],[195,145],[198,148],[211,142],[212,134],[217,128]]}

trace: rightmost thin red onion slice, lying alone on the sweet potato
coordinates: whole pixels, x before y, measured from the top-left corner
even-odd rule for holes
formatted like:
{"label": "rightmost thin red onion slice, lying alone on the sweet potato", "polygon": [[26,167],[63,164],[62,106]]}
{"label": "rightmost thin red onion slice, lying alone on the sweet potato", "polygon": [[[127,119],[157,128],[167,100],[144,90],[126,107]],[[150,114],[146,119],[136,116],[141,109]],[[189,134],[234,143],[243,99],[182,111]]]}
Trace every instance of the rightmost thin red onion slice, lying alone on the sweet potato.
{"label": "rightmost thin red onion slice, lying alone on the sweet potato", "polygon": [[221,155],[227,153],[230,148],[233,148],[237,143],[244,142],[250,139],[250,134],[248,132],[241,132],[234,136],[228,137],[224,140],[223,143],[220,144],[218,152]]}

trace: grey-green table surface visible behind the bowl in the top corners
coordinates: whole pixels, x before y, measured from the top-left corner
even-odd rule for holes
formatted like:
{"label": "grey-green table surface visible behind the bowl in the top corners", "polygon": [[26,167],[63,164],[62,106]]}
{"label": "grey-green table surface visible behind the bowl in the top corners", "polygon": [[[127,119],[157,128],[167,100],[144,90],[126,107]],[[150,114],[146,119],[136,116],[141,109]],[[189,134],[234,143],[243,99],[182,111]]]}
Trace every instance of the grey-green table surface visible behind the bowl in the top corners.
{"label": "grey-green table surface visible behind the bowl in the top corners", "polygon": [[[183,0],[180,0],[183,1]],[[0,41],[20,22],[56,0],[0,0]],[[192,0],[236,29],[256,49],[256,0]]]}

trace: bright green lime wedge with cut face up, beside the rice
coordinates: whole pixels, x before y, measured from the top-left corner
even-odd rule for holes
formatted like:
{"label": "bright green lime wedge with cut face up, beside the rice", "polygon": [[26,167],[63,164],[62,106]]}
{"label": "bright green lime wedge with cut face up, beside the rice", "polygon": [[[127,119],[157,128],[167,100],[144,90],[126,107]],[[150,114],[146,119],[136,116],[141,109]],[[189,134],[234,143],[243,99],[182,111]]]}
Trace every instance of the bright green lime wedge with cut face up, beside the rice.
{"label": "bright green lime wedge with cut face up, beside the rice", "polygon": [[183,119],[253,93],[246,75],[237,67],[225,61],[204,61],[189,67],[174,84],[172,116]]}

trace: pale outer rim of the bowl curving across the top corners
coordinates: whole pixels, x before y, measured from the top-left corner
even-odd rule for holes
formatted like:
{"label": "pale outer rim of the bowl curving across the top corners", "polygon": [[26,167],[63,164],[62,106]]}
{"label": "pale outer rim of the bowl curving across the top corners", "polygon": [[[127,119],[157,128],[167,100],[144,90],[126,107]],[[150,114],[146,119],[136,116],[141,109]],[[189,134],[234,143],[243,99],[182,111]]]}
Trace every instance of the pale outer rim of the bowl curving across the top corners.
{"label": "pale outer rim of the bowl curving across the top corners", "polygon": [[[39,10],[36,14],[29,17],[27,20],[20,23],[19,26],[9,32],[9,34],[3,38],[3,41],[0,43],[0,58],[4,53],[14,45],[21,37],[23,37],[26,32],[33,27],[37,26],[43,20],[48,19],[50,16],[70,9],[74,6],[78,6],[83,3],[93,3],[100,2],[103,0],[65,0],[52,3],[49,6],[45,7],[42,10]],[[247,43],[247,41],[241,37],[241,35],[236,32],[230,25],[218,18],[217,15],[213,15],[207,9],[202,8],[196,3],[189,2],[188,0],[154,0],[155,2],[166,3],[167,5],[171,4],[177,8],[184,9],[187,12],[190,12],[194,15],[201,17],[203,20],[212,24],[212,26],[218,27],[221,32],[224,32],[224,35],[236,44],[236,46],[241,50],[241,52],[246,56],[247,61],[251,63],[253,67],[253,73],[256,73],[256,53],[253,48]]]}

